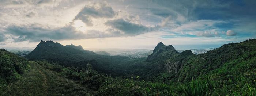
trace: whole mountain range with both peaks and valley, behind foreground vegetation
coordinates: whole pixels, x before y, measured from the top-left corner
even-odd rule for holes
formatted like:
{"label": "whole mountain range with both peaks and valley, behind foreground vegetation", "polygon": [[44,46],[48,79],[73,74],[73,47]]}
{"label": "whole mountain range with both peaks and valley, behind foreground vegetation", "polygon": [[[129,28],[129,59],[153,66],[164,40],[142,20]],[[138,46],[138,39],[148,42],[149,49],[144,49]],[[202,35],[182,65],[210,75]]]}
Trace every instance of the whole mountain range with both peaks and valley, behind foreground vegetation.
{"label": "whole mountain range with both peaks and valley, behind foreground vegetation", "polygon": [[[255,39],[240,43],[230,43],[204,54],[195,55],[191,50],[179,53],[172,45],[162,42],[147,58],[129,58],[125,56],[99,55],[83,50],[82,46],[41,41],[34,51],[26,56],[29,60],[45,59],[59,62],[64,66],[85,67],[93,64],[95,70],[112,76],[141,76],[144,80],[190,81],[202,74],[218,69],[227,62],[234,61],[248,54],[255,48]],[[248,44],[249,43],[249,44]],[[253,46],[253,44],[255,44]],[[163,76],[165,75],[165,76]]]}

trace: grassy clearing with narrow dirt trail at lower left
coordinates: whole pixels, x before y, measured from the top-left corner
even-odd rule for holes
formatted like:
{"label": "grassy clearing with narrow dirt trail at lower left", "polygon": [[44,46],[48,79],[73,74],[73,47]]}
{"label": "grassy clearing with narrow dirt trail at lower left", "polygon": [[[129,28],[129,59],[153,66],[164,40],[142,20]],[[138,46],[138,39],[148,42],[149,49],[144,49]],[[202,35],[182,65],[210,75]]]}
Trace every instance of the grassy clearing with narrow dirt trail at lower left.
{"label": "grassy clearing with narrow dirt trail at lower left", "polygon": [[60,77],[57,72],[45,69],[37,62],[30,61],[31,68],[21,75],[20,80],[4,88],[0,96],[91,96],[94,91]]}

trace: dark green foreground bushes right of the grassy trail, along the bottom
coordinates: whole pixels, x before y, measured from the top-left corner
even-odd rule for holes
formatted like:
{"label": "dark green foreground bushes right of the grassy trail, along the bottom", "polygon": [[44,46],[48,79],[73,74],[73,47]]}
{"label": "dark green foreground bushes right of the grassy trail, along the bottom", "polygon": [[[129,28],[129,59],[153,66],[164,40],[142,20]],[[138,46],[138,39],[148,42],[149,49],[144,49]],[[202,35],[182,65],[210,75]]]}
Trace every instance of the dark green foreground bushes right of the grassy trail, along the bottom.
{"label": "dark green foreground bushes right of the grassy trail, along the bottom", "polygon": [[[144,80],[139,80],[139,76],[130,78],[113,78],[104,74],[99,74],[98,72],[91,69],[89,64],[87,69],[83,69],[80,72],[76,69],[61,67],[56,64],[49,64],[47,62],[39,62],[38,64],[44,66],[44,68],[58,69],[61,68],[59,76],[68,78],[69,80],[74,80],[75,82],[80,82],[80,84],[89,89],[94,89],[95,95],[99,96],[219,96],[219,95],[250,95],[255,94],[255,87],[247,87],[245,90],[236,91],[235,93],[222,93],[222,90],[216,88],[216,80],[214,77],[209,78],[205,76],[203,78],[197,78],[187,83],[177,83],[169,82],[168,84],[162,82],[149,82]],[[228,84],[222,86],[229,86]],[[181,87],[181,88],[180,88]],[[252,96],[253,96],[252,95]],[[239,95],[238,95],[239,96]]]}

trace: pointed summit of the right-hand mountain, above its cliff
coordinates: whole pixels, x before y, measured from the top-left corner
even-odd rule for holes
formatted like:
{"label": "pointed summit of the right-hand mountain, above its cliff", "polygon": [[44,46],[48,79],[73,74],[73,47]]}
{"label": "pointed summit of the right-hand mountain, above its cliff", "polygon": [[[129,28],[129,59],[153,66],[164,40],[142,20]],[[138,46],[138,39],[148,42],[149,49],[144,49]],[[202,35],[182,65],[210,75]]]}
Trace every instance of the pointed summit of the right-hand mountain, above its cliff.
{"label": "pointed summit of the right-hand mountain, above its cliff", "polygon": [[162,42],[158,43],[153,53],[148,56],[147,61],[169,58],[172,55],[179,54],[172,45],[165,46]]}

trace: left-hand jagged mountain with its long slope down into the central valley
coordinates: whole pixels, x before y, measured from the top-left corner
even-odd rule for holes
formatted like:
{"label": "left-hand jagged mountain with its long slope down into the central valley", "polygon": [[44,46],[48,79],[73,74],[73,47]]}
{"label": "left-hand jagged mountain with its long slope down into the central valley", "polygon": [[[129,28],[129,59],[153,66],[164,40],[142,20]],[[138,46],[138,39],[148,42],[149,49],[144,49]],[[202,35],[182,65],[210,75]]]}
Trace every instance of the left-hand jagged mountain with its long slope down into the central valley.
{"label": "left-hand jagged mountain with its long slope down into the central valley", "polygon": [[[107,56],[99,55],[93,51],[84,50],[82,46],[73,44],[63,46],[58,42],[42,41],[25,58],[29,60],[47,60],[48,62],[57,62],[64,66],[86,67],[87,63],[92,64],[98,72],[107,74],[121,74],[116,71],[128,61],[134,59],[125,56]],[[114,71],[114,73],[113,73]]]}

